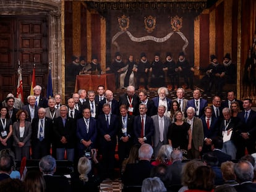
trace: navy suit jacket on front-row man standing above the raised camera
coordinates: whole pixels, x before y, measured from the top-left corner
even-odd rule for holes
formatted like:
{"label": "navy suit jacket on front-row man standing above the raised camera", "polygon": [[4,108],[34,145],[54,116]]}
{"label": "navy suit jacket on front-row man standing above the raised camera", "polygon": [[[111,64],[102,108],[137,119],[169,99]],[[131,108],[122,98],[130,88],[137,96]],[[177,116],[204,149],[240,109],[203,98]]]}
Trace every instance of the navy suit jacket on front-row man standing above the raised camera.
{"label": "navy suit jacket on front-row man standing above the raised camera", "polygon": [[77,138],[79,140],[79,149],[85,148],[80,141],[83,139],[85,141],[92,141],[91,147],[94,148],[95,142],[96,142],[96,137],[97,137],[97,122],[94,118],[90,117],[90,122],[89,122],[89,130],[88,133],[85,128],[85,121],[83,118],[77,120]]}

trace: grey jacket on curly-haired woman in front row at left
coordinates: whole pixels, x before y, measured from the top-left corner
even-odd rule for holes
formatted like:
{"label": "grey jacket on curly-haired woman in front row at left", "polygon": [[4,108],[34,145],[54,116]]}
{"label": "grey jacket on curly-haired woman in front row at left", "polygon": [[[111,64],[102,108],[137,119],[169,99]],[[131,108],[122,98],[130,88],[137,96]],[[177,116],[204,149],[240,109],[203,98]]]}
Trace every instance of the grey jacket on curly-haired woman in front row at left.
{"label": "grey jacket on curly-haired woman in front row at left", "polygon": [[13,146],[18,147],[19,142],[23,142],[24,146],[30,146],[30,137],[32,135],[31,123],[25,120],[25,131],[23,138],[20,138],[20,122],[15,122],[12,126],[12,136],[14,137]]}

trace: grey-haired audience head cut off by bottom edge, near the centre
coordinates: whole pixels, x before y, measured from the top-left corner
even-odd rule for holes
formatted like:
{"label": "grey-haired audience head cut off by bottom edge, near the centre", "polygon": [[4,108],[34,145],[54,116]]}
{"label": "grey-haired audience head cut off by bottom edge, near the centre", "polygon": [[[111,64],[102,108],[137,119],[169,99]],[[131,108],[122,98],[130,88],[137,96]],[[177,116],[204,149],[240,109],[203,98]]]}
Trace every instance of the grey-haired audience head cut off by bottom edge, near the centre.
{"label": "grey-haired audience head cut off by bottom edge, near the centre", "polygon": [[167,191],[164,183],[158,177],[145,178],[142,182],[142,192],[163,192]]}

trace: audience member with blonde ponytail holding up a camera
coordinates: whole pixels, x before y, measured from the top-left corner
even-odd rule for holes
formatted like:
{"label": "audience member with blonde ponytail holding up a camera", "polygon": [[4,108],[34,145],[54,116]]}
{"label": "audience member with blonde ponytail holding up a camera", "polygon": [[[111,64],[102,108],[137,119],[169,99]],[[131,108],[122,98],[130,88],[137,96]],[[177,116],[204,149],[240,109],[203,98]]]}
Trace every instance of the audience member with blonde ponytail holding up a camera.
{"label": "audience member with blonde ponytail holding up a camera", "polygon": [[[91,150],[91,158],[80,157],[77,170],[78,173],[73,173],[71,177],[71,190],[72,191],[90,191],[98,192],[99,185],[102,182],[100,178],[100,164],[97,160],[96,149]],[[93,168],[98,172],[97,175],[93,174]]]}

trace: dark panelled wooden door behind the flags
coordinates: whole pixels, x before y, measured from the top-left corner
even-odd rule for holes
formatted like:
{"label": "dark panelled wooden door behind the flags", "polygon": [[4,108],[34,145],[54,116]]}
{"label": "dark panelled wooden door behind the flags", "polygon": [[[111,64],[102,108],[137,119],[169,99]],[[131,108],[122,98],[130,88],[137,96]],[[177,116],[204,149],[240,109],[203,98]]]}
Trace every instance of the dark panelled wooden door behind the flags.
{"label": "dark panelled wooden door behind the flags", "polygon": [[30,94],[35,64],[36,85],[45,94],[48,77],[48,28],[43,16],[0,16],[0,101],[16,94],[18,60],[22,67],[23,96]]}

